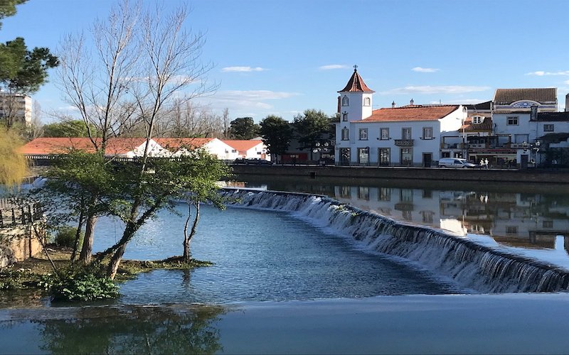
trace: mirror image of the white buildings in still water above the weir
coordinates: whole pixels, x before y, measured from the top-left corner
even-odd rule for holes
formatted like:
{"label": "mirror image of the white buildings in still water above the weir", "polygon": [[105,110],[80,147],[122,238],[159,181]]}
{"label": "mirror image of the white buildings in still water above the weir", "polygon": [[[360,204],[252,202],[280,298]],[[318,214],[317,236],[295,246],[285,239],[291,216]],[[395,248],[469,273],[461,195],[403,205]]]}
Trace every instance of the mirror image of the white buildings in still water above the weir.
{"label": "mirror image of the white buildings in still water above the weir", "polygon": [[335,198],[404,222],[446,229],[459,236],[486,234],[500,244],[569,249],[569,205],[551,197],[400,187],[336,186]]}

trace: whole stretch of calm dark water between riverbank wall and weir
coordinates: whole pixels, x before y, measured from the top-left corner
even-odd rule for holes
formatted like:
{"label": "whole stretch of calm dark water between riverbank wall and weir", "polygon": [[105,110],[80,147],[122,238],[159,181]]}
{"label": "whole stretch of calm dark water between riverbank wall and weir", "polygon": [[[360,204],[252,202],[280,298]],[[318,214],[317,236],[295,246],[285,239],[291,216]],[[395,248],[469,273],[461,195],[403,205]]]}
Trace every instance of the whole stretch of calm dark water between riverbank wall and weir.
{"label": "whole stretch of calm dark water between riverbank wall and weir", "polygon": [[[270,190],[329,195],[361,209],[445,229],[485,244],[569,254],[569,187],[408,180],[263,182]],[[488,236],[491,240],[484,240]],[[522,252],[523,253],[523,252]]]}

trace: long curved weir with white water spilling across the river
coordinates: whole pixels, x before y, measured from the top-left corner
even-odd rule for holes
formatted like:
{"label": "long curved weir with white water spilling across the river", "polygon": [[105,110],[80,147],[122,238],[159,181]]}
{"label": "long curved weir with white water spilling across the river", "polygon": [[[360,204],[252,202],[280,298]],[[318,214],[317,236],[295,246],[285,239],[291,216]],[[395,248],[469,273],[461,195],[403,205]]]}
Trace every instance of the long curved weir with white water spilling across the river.
{"label": "long curved weir with white water spilling across the river", "polygon": [[481,293],[569,290],[569,271],[497,251],[439,229],[404,224],[322,195],[223,189],[235,207],[292,212],[371,251],[404,258]]}

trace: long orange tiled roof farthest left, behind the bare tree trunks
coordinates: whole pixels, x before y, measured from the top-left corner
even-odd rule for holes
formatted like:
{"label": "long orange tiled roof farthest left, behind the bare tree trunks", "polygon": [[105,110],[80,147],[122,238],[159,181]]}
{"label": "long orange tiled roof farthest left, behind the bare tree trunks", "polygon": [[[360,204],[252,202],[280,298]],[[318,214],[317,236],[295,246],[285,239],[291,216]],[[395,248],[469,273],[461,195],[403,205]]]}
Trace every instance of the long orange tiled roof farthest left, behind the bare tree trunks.
{"label": "long orange tiled roof farthest left, behind the bare tree trunks", "polygon": [[[141,146],[145,141],[144,138],[110,138],[105,153],[107,155],[128,153]],[[95,138],[95,143],[99,145],[101,138]],[[36,138],[22,147],[22,153],[63,154],[72,148],[91,153],[95,152],[95,147],[89,138]]]}

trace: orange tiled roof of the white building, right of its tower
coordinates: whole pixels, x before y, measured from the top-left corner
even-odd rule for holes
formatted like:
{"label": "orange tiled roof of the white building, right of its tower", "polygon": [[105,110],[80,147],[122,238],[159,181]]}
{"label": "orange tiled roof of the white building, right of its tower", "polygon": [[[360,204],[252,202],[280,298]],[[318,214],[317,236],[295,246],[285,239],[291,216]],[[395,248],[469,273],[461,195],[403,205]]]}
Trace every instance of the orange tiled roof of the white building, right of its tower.
{"label": "orange tiled roof of the white building, right of its tower", "polygon": [[395,107],[377,109],[367,119],[353,122],[436,121],[456,111],[458,105]]}

